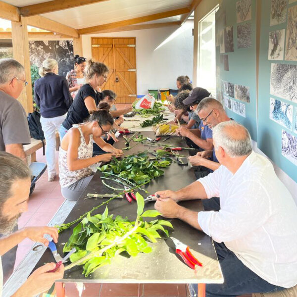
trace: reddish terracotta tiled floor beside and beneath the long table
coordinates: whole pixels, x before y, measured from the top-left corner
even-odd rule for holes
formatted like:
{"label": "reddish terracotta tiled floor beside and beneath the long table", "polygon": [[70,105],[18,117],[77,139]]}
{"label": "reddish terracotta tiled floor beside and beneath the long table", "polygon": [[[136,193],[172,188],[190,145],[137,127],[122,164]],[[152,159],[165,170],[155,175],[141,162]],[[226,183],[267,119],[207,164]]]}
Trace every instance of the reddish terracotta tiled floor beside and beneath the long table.
{"label": "reddish terracotta tiled floor beside and beneath the long table", "polygon": [[[118,104],[118,108],[125,107]],[[125,104],[129,105],[129,104]],[[56,157],[58,152],[56,152]],[[46,162],[42,149],[37,151],[37,161]],[[58,172],[58,168],[57,168]],[[26,226],[48,225],[50,219],[63,203],[64,198],[60,192],[58,177],[53,182],[48,182],[45,172],[37,181],[36,188],[30,196],[28,211],[19,218],[19,228]],[[16,266],[32,247],[33,242],[24,240],[18,245]],[[84,284],[85,289],[81,297],[186,297],[185,284]],[[67,297],[79,297],[79,292],[74,283],[65,284]],[[243,297],[251,297],[245,295]]]}

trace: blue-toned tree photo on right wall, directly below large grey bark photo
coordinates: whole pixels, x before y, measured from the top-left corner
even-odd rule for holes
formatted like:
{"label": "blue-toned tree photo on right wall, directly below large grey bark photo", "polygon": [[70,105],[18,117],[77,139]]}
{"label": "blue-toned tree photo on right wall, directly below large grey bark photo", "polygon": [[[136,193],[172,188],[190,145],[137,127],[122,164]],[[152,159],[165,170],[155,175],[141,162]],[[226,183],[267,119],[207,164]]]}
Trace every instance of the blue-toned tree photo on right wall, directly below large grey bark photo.
{"label": "blue-toned tree photo on right wall, directly below large grey bark photo", "polygon": [[269,118],[292,130],[293,106],[281,100],[270,98]]}

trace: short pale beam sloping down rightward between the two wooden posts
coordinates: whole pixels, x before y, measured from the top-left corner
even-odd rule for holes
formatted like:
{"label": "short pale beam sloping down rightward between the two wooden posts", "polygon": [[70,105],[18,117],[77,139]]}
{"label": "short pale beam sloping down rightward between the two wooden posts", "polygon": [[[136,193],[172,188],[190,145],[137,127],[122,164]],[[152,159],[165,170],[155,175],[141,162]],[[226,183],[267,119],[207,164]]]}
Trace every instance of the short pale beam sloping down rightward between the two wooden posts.
{"label": "short pale beam sloping down rightward between the two wooden posts", "polygon": [[26,19],[28,21],[28,25],[30,25],[32,27],[37,27],[40,29],[63,34],[63,35],[70,36],[70,37],[75,37],[75,38],[79,37],[77,29],[68,27],[66,25],[63,25],[63,24],[55,22],[55,21],[52,21],[52,20],[45,18],[43,16],[40,16],[40,15],[29,16]]}

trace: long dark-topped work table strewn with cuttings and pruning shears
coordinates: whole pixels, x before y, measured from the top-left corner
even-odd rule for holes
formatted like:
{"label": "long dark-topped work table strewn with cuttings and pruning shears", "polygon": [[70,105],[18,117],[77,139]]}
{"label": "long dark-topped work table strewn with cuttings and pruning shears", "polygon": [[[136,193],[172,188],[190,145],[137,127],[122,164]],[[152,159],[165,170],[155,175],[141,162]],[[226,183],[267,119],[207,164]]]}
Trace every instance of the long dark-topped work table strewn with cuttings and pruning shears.
{"label": "long dark-topped work table strewn with cuttings and pruning shears", "polygon": [[[142,132],[142,134],[154,138],[153,132]],[[116,148],[124,148],[124,143],[125,140],[122,137],[119,137],[119,142],[114,146]],[[162,144],[162,140],[159,143]],[[184,140],[179,137],[171,137],[163,144],[181,147],[185,146]],[[139,143],[136,147],[125,151],[125,154],[137,153],[144,150],[153,151],[154,149],[155,147],[144,146],[142,143]],[[187,154],[187,151],[183,152],[183,154]],[[165,168],[164,171],[165,173],[163,176],[156,178],[146,185],[145,188],[150,194],[153,194],[158,190],[178,190],[195,181],[195,175],[190,166],[180,166],[176,163],[172,163],[169,167]],[[80,215],[92,209],[94,206],[99,205],[106,199],[87,198],[88,193],[102,194],[112,192],[112,190],[106,188],[101,183],[100,176],[101,173],[97,171],[81,198],[70,211],[65,223],[77,219]],[[140,191],[140,194],[143,193],[144,192]],[[180,204],[196,211],[202,210],[202,203],[200,200],[183,201]],[[94,211],[93,215],[102,213],[104,209],[105,206],[101,206]],[[146,203],[145,210],[148,209],[154,209],[153,202]],[[113,213],[114,215],[126,216],[131,221],[136,218],[136,210],[136,202],[133,201],[132,203],[129,203],[124,198],[116,198],[108,203],[109,214]],[[85,277],[82,274],[82,266],[76,266],[67,270],[64,274],[64,278],[58,282],[164,284],[222,283],[223,277],[211,238],[181,220],[170,219],[169,221],[171,221],[174,227],[174,231],[170,232],[170,235],[191,247],[193,254],[203,263],[203,267],[197,267],[196,270],[189,268],[175,253],[171,240],[164,237],[158,240],[156,244],[152,244],[153,251],[151,253],[139,253],[136,257],[117,255],[110,265],[98,268],[88,277]],[[57,244],[58,253],[63,254],[63,246],[72,234],[73,227],[75,226],[63,231],[59,235],[59,243]],[[45,262],[53,260],[52,254],[47,249],[37,263],[36,268],[42,266]],[[57,286],[57,288],[61,287]],[[60,292],[59,294],[61,294],[60,296],[63,296],[63,293]]]}

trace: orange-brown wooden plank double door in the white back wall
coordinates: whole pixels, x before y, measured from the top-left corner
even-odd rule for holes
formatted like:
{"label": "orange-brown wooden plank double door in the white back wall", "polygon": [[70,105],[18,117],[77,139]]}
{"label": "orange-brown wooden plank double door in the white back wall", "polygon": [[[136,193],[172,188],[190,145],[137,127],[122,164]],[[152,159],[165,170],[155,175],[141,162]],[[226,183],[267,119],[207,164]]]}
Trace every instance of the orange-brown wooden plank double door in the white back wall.
{"label": "orange-brown wooden plank double door in the white back wall", "polygon": [[116,103],[132,103],[136,99],[135,37],[92,37],[92,57],[109,68],[101,90],[117,94]]}

